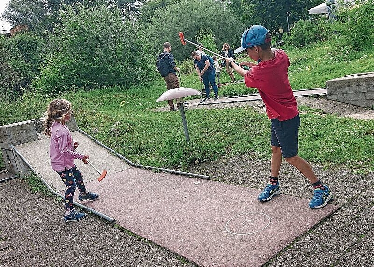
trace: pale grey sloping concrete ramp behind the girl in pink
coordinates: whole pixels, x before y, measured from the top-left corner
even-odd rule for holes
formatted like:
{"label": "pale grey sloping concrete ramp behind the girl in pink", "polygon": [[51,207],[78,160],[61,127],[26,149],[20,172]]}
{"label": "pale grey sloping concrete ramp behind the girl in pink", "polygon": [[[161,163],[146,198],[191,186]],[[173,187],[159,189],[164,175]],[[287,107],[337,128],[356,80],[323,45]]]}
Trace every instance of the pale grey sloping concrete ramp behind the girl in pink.
{"label": "pale grey sloping concrete ramp behind the girl in pink", "polygon": [[[89,161],[98,169],[108,171],[108,174],[113,174],[130,168],[124,160],[110,154],[110,152],[102,146],[96,144],[94,141],[86,137],[84,134],[75,131],[71,133],[74,141],[79,143],[77,151],[81,154],[89,155]],[[39,140],[31,141],[21,145],[15,146],[20,153],[26,158],[32,167],[40,172],[41,177],[52,187],[59,192],[66,189],[59,175],[51,168],[51,159],[49,157],[49,143],[50,138],[42,133],[38,134]],[[75,160],[75,165],[83,174],[83,181],[88,182],[97,179],[100,174],[89,164],[84,164],[81,160]]]}

